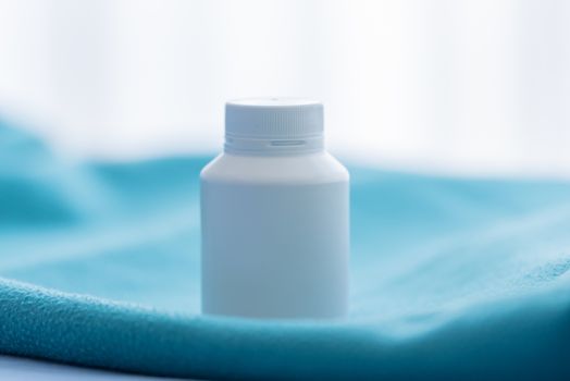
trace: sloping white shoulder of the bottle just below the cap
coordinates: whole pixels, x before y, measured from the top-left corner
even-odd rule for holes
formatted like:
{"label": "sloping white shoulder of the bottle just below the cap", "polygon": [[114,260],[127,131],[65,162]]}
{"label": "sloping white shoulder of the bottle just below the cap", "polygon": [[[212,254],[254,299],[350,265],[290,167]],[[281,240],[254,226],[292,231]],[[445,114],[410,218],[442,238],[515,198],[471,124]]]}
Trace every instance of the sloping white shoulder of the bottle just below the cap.
{"label": "sloping white shoulder of the bottle just below the cap", "polygon": [[221,153],[201,171],[202,182],[335,183],[348,182],[346,168],[326,151],[298,156]]}

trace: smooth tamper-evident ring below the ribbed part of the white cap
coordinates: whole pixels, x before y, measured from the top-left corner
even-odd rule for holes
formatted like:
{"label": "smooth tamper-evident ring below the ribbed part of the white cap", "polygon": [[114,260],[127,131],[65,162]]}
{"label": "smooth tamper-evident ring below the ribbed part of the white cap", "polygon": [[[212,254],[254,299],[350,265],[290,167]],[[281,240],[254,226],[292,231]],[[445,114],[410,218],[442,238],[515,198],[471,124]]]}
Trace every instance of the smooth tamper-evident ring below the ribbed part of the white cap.
{"label": "smooth tamper-evident ring below the ribbed part of the white cap", "polygon": [[261,138],[225,135],[224,152],[253,156],[293,156],[324,150],[322,134],[299,138]]}

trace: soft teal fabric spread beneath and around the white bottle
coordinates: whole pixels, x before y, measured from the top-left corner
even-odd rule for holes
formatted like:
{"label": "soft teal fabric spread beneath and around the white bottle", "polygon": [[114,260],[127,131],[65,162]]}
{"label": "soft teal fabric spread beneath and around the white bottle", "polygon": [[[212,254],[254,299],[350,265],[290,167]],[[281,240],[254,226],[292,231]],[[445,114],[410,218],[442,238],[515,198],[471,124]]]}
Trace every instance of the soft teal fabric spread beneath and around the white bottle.
{"label": "soft teal fabric spread beneath and around the white bottle", "polygon": [[570,184],[351,167],[346,321],[199,316],[210,158],[0,126],[0,353],[203,379],[570,379]]}

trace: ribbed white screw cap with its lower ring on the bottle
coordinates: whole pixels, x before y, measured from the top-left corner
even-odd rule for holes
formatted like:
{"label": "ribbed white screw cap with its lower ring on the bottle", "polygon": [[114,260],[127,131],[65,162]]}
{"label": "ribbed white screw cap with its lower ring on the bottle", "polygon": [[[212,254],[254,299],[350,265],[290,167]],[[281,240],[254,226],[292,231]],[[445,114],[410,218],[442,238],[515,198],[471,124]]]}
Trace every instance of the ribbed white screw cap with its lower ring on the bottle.
{"label": "ribbed white screw cap with its lower ring on the bottle", "polygon": [[250,98],[225,105],[226,152],[297,155],[323,147],[323,106],[318,101]]}

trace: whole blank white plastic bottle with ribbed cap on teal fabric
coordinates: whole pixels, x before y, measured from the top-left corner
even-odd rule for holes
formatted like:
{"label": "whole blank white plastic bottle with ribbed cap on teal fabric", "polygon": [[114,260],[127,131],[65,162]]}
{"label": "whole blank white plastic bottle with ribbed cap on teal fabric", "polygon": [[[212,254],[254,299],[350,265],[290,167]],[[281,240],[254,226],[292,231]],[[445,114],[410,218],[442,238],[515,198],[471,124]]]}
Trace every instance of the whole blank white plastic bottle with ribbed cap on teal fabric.
{"label": "whole blank white plastic bottle with ribbed cap on teal fabric", "polygon": [[323,145],[323,107],[226,103],[224,152],[201,172],[202,312],[347,314],[348,171]]}

